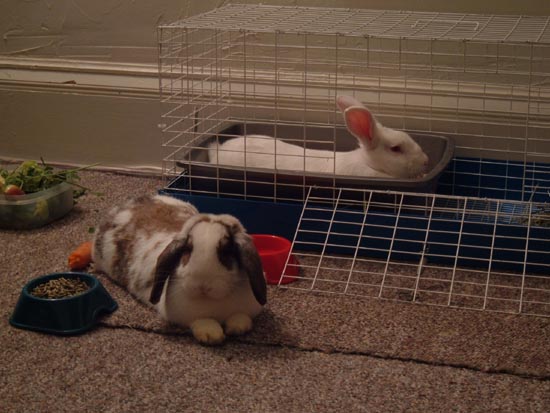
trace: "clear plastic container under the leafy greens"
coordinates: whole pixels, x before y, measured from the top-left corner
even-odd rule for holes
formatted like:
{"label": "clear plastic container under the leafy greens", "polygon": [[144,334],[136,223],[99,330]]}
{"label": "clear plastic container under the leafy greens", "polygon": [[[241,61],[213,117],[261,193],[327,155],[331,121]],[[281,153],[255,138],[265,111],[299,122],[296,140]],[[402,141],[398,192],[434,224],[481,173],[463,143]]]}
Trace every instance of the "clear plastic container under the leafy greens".
{"label": "clear plastic container under the leafy greens", "polygon": [[73,205],[73,187],[65,182],[32,194],[0,195],[0,228],[38,228],[66,215]]}

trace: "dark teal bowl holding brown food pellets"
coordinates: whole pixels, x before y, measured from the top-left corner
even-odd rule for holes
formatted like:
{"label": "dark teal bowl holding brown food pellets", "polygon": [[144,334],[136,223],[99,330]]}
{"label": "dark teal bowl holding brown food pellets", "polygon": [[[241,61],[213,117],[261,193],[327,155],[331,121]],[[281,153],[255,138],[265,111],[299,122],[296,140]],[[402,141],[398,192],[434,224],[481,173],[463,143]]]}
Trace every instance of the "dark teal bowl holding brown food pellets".
{"label": "dark teal bowl holding brown food pellets", "polygon": [[[88,289],[63,298],[40,298],[31,294],[35,287],[61,277],[80,279],[88,285]],[[43,333],[74,335],[89,330],[102,314],[112,313],[117,308],[116,301],[99,280],[90,274],[48,274],[31,280],[23,287],[10,324]]]}

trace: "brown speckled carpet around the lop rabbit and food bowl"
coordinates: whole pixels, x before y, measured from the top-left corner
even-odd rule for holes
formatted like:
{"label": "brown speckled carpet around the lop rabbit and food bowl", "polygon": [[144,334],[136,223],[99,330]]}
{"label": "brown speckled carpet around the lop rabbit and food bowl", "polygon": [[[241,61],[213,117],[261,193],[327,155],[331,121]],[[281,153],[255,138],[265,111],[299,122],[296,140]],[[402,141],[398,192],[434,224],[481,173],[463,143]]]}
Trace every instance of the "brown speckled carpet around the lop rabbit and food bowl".
{"label": "brown speckled carpet around the lop rabbit and food bowl", "polygon": [[87,172],[65,218],[0,231],[0,411],[548,411],[550,319],[269,288],[250,334],[222,347],[98,275],[119,309],[77,337],[15,329],[31,278],[66,269],[109,205],[157,178]]}

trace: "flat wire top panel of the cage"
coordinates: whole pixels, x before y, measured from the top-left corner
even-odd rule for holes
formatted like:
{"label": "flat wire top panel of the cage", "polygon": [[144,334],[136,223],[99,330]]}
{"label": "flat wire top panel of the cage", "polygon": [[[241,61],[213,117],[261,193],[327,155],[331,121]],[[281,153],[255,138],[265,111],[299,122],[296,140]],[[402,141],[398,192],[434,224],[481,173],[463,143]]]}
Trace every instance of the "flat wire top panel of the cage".
{"label": "flat wire top panel of the cage", "polygon": [[161,28],[550,44],[550,16],[228,4]]}

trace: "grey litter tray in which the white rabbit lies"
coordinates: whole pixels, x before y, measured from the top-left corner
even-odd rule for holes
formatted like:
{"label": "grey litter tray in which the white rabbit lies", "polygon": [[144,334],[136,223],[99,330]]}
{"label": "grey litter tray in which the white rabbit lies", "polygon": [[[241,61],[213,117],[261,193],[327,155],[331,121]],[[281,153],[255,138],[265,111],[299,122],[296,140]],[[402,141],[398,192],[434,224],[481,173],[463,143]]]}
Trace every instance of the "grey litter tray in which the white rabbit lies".
{"label": "grey litter tray in which the white rabbit lies", "polygon": [[[430,159],[428,173],[418,179],[365,178],[323,173],[306,173],[304,175],[301,171],[273,171],[262,168],[244,170],[239,167],[218,166],[208,162],[208,145],[215,142],[216,139],[223,143],[228,139],[245,134],[258,134],[276,136],[283,141],[298,144],[295,140],[289,141],[285,138],[306,136],[307,148],[327,149],[327,144],[322,142],[332,142],[334,133],[336,134],[336,151],[351,151],[357,147],[357,139],[345,128],[334,130],[314,126],[304,128],[300,125],[236,123],[219,133],[204,134],[196,138],[193,141],[193,147],[189,148],[182,159],[177,162],[178,166],[185,169],[183,173],[185,183],[182,183],[181,179],[177,179],[171,187],[217,195],[246,194],[246,197],[272,198],[274,200],[303,200],[304,188],[309,186],[433,193],[440,175],[451,161],[454,152],[454,144],[448,137],[427,133],[410,133]],[[316,142],[309,142],[307,137],[315,137]]]}

